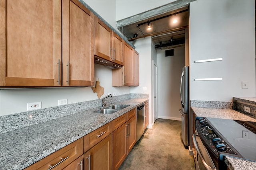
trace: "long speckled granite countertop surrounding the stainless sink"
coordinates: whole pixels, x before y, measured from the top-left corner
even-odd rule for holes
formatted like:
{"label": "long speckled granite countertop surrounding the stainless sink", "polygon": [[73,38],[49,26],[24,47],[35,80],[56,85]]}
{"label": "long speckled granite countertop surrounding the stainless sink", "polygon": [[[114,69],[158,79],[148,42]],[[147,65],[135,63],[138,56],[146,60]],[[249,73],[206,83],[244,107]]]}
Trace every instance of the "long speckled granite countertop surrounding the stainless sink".
{"label": "long speckled granite countertop surrounding the stainless sink", "polygon": [[[95,129],[146,102],[132,98],[115,104],[130,105],[113,114],[94,113],[88,109],[58,119],[0,134],[0,169],[21,170]],[[110,104],[111,105],[111,104]]]}

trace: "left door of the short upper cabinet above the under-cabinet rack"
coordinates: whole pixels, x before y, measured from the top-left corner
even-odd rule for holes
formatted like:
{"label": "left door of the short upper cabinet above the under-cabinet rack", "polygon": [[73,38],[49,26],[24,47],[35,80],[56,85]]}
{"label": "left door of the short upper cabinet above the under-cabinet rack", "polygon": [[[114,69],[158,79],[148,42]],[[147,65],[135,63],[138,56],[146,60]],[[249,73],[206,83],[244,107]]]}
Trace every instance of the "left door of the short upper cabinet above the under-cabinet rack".
{"label": "left door of the short upper cabinet above the under-cabinet rack", "polygon": [[112,61],[112,30],[95,16],[95,52],[94,54]]}

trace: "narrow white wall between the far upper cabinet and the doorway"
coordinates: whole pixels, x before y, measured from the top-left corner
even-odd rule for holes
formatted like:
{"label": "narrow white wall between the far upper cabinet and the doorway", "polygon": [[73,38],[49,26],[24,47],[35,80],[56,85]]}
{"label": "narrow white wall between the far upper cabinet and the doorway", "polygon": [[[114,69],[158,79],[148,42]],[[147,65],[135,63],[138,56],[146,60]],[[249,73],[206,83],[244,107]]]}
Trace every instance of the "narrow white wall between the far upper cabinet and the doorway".
{"label": "narrow white wall between the far upper cabinet and the doorway", "polygon": [[[133,41],[136,51],[140,54],[139,62],[139,78],[140,86],[134,86],[130,88],[131,93],[146,93],[149,94],[149,125],[152,126],[152,78],[151,78],[151,37],[145,37],[143,39],[136,39]],[[146,87],[146,91],[142,91],[142,87]]]}

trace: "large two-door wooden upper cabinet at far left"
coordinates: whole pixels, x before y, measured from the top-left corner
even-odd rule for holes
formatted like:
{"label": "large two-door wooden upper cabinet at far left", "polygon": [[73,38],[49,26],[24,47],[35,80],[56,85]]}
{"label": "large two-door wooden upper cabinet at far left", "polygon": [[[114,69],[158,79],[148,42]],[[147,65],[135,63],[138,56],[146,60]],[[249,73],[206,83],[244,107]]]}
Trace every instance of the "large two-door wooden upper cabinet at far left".
{"label": "large two-door wooden upper cabinet at far left", "polygon": [[0,87],[94,85],[94,15],[78,0],[1,0],[0,17]]}

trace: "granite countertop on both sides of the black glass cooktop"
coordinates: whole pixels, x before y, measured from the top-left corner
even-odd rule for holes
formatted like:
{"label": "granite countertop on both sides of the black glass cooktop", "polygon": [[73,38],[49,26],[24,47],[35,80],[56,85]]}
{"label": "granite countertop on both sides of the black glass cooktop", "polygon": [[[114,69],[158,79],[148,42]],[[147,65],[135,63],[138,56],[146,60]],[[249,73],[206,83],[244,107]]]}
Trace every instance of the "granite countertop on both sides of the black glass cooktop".
{"label": "granite countertop on both sides of the black glass cooktop", "polygon": [[[202,108],[202,107],[191,107],[191,108],[196,113],[196,116],[200,116],[200,117],[214,117],[214,118],[221,118],[221,119],[233,119],[233,120],[256,122],[256,119],[232,109],[216,109],[216,108]],[[224,161],[230,170],[256,170],[256,162],[253,162],[253,161],[233,158],[230,156],[225,156]]]}

